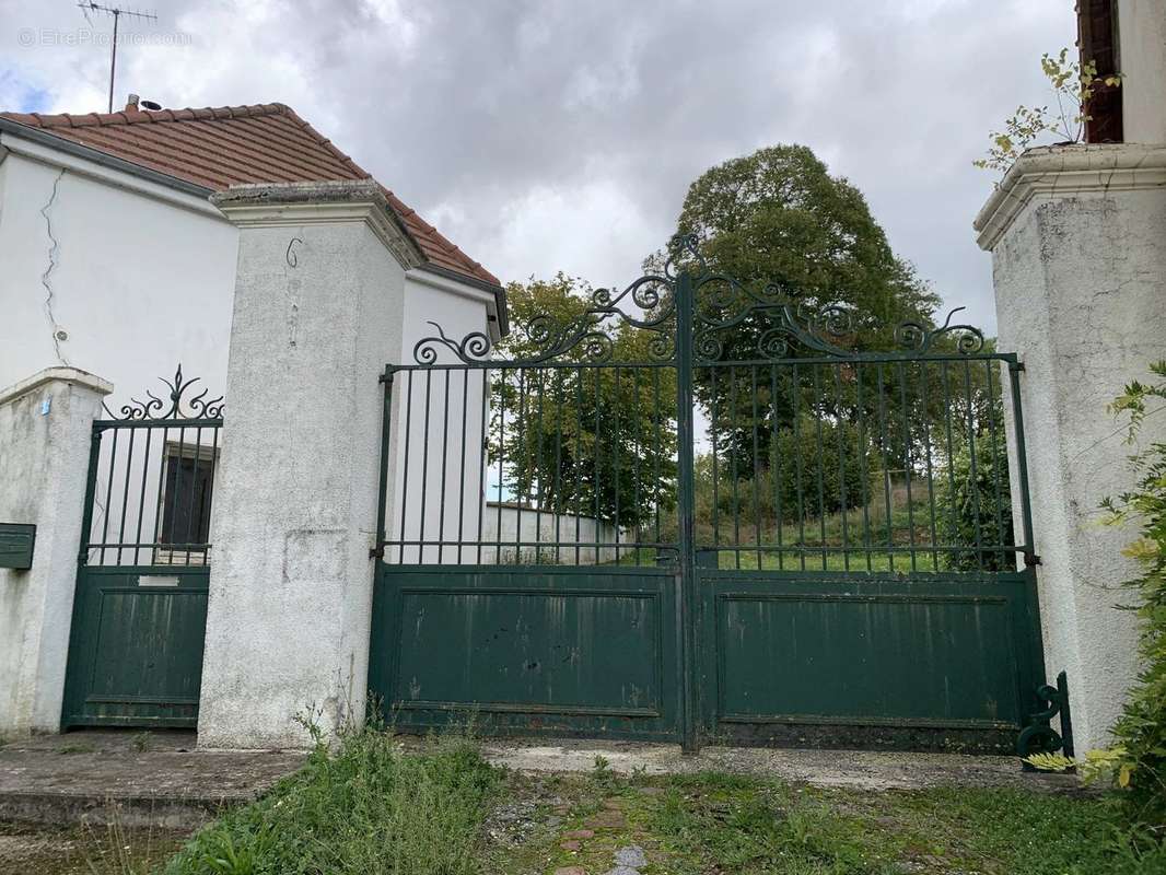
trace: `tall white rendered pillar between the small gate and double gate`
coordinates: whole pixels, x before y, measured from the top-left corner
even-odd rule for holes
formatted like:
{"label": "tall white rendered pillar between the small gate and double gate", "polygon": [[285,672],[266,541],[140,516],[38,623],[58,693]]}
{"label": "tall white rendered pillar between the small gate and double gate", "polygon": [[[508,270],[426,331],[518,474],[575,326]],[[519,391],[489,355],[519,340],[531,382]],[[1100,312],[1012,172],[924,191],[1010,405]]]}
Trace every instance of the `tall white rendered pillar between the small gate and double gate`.
{"label": "tall white rendered pillar between the small gate and double gate", "polygon": [[420,254],[372,181],[243,186],[201,747],[364,715],[384,392]]}

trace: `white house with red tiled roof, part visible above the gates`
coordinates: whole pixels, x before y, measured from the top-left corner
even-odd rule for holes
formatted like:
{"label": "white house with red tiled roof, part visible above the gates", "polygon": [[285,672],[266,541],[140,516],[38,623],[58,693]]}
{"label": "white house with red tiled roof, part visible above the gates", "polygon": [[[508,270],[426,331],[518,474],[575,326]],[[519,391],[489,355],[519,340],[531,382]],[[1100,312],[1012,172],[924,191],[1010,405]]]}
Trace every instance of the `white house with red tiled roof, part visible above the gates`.
{"label": "white house with red tiled roof, part visible above the gates", "polygon": [[[210,196],[366,178],[282,104],[152,112],[134,98],[112,114],[0,113],[0,386],[72,365],[113,383],[115,411],[181,362],[220,393],[239,231]],[[498,279],[385,197],[419,253],[406,276],[406,345],[430,332],[427,320],[497,340]]]}

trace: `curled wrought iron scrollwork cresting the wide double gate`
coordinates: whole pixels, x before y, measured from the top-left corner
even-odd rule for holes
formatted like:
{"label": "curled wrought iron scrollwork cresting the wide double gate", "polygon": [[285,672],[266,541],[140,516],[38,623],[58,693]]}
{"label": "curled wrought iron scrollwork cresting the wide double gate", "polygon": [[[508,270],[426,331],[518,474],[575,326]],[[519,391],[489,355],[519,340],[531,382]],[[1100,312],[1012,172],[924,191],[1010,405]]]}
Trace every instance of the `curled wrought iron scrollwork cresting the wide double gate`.
{"label": "curled wrought iron scrollwork cresting the wide double gate", "polygon": [[[676,312],[676,287],[682,273],[693,282],[690,314]],[[922,357],[934,352],[943,337],[956,338],[957,354],[972,355],[983,350],[984,335],[978,328],[951,323],[953,316],[962,309],[951,310],[939,327],[922,320],[900,322],[893,332],[895,344],[902,350],[900,355]],[[862,355],[847,345],[858,334],[859,317],[854,310],[837,303],[812,304],[801,290],[786,285],[770,284],[758,289],[714,272],[701,254],[696,237],[676,235],[669,242],[668,256],[659,273],[640,276],[623,289],[596,289],[586,309],[569,320],[556,320],[548,314],[534,317],[520,329],[526,345],[534,352],[505,364],[540,364],[571,352],[583,362],[609,362],[614,354],[614,337],[607,330],[611,323],[652,332],[649,356],[658,362],[669,362],[676,354],[677,317],[693,320],[693,349],[697,362],[721,362],[728,338],[746,322],[760,332],[754,348],[745,354],[749,359],[773,362],[799,354],[829,358]],[[493,343],[487,335],[475,331],[454,340],[436,322],[429,324],[437,332],[423,337],[413,348],[416,364],[436,364],[442,350],[451,352],[463,364],[492,360]]]}

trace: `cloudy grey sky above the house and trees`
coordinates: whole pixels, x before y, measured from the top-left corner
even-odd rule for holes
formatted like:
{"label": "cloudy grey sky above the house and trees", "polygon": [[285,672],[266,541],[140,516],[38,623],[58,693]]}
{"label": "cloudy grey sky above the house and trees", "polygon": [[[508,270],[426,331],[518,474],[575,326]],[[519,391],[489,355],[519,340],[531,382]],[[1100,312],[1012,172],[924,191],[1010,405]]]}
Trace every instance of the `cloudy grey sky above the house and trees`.
{"label": "cloudy grey sky above the house and trees", "polygon": [[[107,0],[117,2],[117,0]],[[638,275],[708,167],[810,146],[949,306],[995,327],[971,167],[1073,0],[157,0],[117,100],[282,102],[504,280]],[[0,0],[0,108],[104,111],[111,29]],[[103,44],[104,42],[104,44]]]}

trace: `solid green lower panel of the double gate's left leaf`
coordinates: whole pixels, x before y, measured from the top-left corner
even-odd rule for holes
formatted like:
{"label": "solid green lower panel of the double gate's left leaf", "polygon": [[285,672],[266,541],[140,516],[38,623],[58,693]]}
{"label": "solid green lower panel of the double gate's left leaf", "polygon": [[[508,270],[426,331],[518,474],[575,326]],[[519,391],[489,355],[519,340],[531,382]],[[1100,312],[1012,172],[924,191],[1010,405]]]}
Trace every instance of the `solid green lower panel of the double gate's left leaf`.
{"label": "solid green lower panel of the double gate's left leaf", "polygon": [[401,728],[673,737],[674,589],[649,568],[381,564],[370,685]]}

